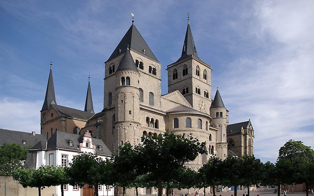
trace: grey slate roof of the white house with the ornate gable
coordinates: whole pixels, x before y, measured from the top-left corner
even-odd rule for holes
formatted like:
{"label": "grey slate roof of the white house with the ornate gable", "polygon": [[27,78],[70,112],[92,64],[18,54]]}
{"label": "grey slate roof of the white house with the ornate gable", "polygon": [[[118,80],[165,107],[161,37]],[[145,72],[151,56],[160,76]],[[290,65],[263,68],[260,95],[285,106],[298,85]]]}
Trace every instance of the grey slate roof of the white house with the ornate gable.
{"label": "grey slate roof of the white house with the ornate gable", "polygon": [[[42,148],[36,148],[38,146],[34,146],[31,150],[48,150],[48,149],[55,149],[55,148],[62,148],[72,151],[80,151],[78,149],[79,143],[82,143],[84,135],[77,135],[73,133],[67,133],[63,131],[56,131],[47,141],[47,147],[42,146]],[[69,141],[73,141],[73,146],[69,145]],[[96,153],[101,155],[108,155],[111,156],[111,151],[105,145],[105,143],[101,139],[92,138],[92,144],[96,146]],[[102,150],[99,150],[99,146],[102,146]]]}

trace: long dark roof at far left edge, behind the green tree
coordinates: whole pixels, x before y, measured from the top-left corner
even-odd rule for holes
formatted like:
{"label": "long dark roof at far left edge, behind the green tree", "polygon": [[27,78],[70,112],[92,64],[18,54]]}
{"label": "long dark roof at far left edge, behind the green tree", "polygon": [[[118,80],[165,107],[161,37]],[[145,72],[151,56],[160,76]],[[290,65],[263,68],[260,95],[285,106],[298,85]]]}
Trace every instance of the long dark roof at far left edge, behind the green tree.
{"label": "long dark roof at far left edge, behind the green tree", "polygon": [[[26,144],[23,144],[23,140],[26,141]],[[14,131],[8,129],[0,129],[0,146],[3,143],[16,143],[21,146],[34,146],[39,141],[46,142],[46,137],[41,134],[35,134],[24,131]]]}

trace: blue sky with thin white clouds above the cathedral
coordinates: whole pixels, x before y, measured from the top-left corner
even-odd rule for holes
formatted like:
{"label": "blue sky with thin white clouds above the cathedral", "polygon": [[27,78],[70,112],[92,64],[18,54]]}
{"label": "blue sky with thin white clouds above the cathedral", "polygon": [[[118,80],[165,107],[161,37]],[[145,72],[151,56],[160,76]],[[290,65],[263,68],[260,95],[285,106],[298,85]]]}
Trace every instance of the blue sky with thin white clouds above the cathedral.
{"label": "blue sky with thin white clouds above the cathedral", "polygon": [[314,146],[314,1],[0,1],[0,128],[40,133],[53,62],[57,103],[84,109],[88,75],[103,109],[104,62],[132,24],[162,64],[181,56],[187,12],[229,123],[251,119],[254,154],[290,139]]}

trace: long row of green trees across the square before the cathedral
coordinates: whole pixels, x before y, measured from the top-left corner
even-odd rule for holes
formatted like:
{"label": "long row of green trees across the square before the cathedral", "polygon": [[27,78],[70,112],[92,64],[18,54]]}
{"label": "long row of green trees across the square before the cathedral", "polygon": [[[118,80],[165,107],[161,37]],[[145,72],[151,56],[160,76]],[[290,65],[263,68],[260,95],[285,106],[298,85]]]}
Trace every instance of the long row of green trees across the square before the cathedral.
{"label": "long row of green trees across the square before the cathedral", "polygon": [[[24,187],[37,187],[39,190],[46,186],[63,184],[85,184],[94,186],[98,195],[98,184],[122,187],[123,195],[126,188],[155,187],[161,196],[162,189],[166,188],[168,196],[172,188],[205,188],[217,185],[234,186],[234,195],[237,195],[237,186],[243,185],[248,189],[252,184],[295,184],[313,182],[313,150],[304,146],[300,141],[288,141],[279,151],[276,164],[262,163],[254,156],[228,156],[221,160],[215,156],[198,172],[184,166],[192,162],[199,154],[207,154],[203,146],[193,135],[174,135],[166,132],[163,135],[142,137],[142,143],[132,146],[126,143],[120,146],[117,154],[111,159],[102,160],[93,154],[76,156],[70,167],[41,166],[37,169],[17,169],[14,179]],[[63,190],[62,196],[63,196]],[[280,191],[279,191],[280,192]],[[308,194],[308,193],[307,193]],[[280,193],[279,193],[280,195]]]}

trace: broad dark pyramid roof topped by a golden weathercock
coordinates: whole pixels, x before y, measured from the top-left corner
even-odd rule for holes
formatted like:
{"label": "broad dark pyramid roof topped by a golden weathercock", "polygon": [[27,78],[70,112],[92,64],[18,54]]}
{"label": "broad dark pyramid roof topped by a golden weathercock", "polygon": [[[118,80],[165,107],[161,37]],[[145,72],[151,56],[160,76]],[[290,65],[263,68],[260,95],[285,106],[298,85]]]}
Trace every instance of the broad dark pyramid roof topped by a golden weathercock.
{"label": "broad dark pyramid roof topped by a golden weathercock", "polygon": [[[112,52],[111,56],[109,57],[107,61],[109,61],[110,59],[124,52],[126,50],[126,46],[129,45],[130,50],[138,52],[139,54],[142,54],[143,56],[147,56],[153,61],[156,61],[159,63],[159,61],[155,57],[152,50],[150,50],[149,46],[143,39],[142,35],[138,32],[138,29],[136,29],[133,22],[134,21],[132,21],[131,27],[127,30],[127,33],[123,36],[122,40],[117,45],[116,49]],[[144,54],[144,50],[146,54]]]}

